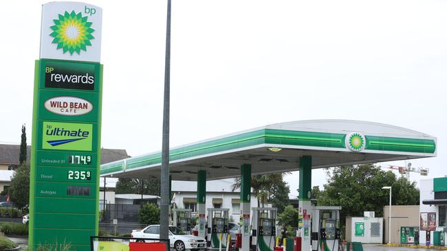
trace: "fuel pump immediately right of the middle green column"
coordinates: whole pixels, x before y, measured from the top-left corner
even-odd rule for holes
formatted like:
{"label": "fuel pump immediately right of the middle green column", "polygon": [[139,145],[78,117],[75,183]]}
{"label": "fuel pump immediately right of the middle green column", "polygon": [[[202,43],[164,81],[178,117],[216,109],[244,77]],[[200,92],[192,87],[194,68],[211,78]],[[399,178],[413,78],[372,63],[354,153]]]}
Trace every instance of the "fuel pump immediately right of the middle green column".
{"label": "fuel pump immediately right of the middle green column", "polygon": [[276,210],[276,208],[271,207],[252,208],[252,250],[274,250],[276,239]]}

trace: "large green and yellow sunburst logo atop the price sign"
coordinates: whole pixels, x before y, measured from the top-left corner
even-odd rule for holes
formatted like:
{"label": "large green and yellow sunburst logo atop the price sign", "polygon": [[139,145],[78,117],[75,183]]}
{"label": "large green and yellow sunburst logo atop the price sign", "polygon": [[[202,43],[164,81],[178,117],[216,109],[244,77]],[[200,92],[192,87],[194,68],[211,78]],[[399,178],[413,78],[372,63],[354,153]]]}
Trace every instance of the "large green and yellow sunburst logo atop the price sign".
{"label": "large green and yellow sunburst logo atop the price sign", "polygon": [[87,51],[87,46],[91,46],[90,40],[94,39],[91,33],[95,30],[91,28],[91,22],[87,22],[87,16],[81,13],[76,14],[72,10],[71,13],[59,14],[59,19],[53,19],[53,32],[50,34],[54,37],[52,43],[57,44],[56,49],[63,49],[63,53],[69,51],[70,55],[74,52],[80,54],[81,49]]}

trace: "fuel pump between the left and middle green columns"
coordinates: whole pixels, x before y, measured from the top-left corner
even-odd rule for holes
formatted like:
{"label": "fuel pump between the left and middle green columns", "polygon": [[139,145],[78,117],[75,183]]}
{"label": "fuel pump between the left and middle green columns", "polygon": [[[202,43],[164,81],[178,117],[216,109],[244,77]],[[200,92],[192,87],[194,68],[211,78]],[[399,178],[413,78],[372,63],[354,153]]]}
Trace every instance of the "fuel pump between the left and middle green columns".
{"label": "fuel pump between the left and middle green columns", "polygon": [[222,237],[222,249],[226,248],[228,237],[228,208],[208,208],[208,247],[219,248]]}

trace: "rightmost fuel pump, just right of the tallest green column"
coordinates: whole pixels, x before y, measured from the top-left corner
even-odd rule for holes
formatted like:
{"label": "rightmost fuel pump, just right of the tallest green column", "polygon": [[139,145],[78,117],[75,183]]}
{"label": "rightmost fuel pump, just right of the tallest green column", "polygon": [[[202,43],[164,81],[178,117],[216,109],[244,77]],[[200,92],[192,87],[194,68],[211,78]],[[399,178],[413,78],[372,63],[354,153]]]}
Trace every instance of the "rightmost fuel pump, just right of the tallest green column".
{"label": "rightmost fuel pump, just right of the tallest green column", "polygon": [[312,206],[312,250],[343,250],[340,230],[341,206]]}

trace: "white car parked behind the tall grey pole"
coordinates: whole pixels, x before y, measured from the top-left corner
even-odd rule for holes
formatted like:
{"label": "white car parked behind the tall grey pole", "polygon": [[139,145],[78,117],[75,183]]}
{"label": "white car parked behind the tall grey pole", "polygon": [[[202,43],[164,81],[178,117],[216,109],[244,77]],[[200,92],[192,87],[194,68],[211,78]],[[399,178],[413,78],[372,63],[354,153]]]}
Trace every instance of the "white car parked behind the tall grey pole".
{"label": "white car parked behind the tall grey pole", "polygon": [[[132,230],[131,237],[159,239],[160,225],[146,226],[142,230]],[[176,251],[206,249],[206,240],[204,238],[186,235],[186,232],[183,232],[176,226],[169,226],[169,242],[171,243],[171,248],[175,248]]]}

